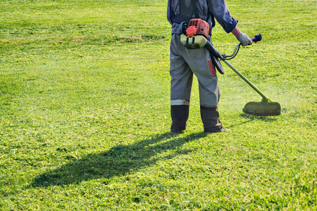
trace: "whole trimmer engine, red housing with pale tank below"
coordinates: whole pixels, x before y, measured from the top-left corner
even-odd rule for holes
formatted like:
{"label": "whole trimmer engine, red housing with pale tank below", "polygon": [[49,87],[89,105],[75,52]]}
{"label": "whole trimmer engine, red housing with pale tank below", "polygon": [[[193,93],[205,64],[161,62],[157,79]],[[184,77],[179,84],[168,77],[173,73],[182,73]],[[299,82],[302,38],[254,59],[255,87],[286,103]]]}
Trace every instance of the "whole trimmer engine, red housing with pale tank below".
{"label": "whole trimmer engine, red housing with pale tank below", "polygon": [[194,18],[187,23],[181,23],[180,41],[187,49],[200,49],[205,46],[209,37],[209,24],[200,18]]}

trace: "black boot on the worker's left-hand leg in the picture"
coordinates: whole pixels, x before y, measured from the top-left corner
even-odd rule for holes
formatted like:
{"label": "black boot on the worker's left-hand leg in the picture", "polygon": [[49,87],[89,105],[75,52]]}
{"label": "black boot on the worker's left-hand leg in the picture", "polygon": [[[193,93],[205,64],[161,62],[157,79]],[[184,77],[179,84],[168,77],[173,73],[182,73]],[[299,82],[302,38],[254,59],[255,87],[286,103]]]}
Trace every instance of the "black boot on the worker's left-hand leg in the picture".
{"label": "black boot on the worker's left-hand leg in the picture", "polygon": [[173,134],[181,133],[186,129],[186,122],[189,116],[189,106],[170,106],[170,116],[172,117],[170,132]]}

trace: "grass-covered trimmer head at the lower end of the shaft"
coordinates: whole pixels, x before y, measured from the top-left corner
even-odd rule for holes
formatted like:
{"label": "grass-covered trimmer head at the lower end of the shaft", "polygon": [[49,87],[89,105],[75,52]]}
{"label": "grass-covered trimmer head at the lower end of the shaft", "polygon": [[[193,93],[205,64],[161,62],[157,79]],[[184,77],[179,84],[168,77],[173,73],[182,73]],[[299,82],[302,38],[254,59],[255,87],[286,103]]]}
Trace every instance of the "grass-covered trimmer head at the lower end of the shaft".
{"label": "grass-covered trimmer head at the lower end of the shaft", "polygon": [[247,115],[256,116],[278,116],[280,115],[280,103],[270,102],[263,98],[261,102],[249,102],[243,112]]}

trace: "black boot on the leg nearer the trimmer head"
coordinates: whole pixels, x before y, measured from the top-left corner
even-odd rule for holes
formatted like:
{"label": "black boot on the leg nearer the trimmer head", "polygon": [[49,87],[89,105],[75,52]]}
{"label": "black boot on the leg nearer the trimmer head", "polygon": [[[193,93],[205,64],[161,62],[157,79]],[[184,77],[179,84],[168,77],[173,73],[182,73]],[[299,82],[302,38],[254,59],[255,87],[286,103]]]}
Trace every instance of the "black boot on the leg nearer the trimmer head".
{"label": "black boot on the leg nearer the trimmer head", "polygon": [[218,107],[204,107],[200,106],[201,120],[204,124],[205,133],[223,132],[225,128],[219,120]]}

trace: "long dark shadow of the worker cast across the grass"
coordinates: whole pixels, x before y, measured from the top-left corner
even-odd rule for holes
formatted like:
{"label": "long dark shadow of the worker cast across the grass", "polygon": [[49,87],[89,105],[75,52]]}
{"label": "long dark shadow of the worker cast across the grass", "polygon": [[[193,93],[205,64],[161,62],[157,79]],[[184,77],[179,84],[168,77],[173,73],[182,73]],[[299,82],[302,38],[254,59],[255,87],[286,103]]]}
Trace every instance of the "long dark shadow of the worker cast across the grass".
{"label": "long dark shadow of the worker cast across the grass", "polygon": [[[85,158],[40,174],[33,179],[31,187],[64,186],[81,181],[125,175],[141,167],[153,165],[158,160],[174,158],[191,150],[180,148],[184,143],[206,136],[204,132],[187,136],[173,136],[169,133],[144,139],[130,145],[118,145],[106,152],[92,153]],[[166,151],[173,151],[167,153]]]}

